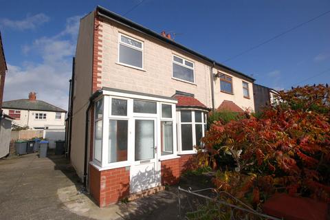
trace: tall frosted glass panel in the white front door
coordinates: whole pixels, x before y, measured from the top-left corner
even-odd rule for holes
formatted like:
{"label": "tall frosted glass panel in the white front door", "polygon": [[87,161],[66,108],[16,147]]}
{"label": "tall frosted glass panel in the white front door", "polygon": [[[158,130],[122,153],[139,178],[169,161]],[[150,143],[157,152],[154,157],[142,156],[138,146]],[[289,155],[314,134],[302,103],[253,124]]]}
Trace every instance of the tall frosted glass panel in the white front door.
{"label": "tall frosted glass panel in the white front door", "polygon": [[135,120],[135,161],[155,158],[154,120]]}

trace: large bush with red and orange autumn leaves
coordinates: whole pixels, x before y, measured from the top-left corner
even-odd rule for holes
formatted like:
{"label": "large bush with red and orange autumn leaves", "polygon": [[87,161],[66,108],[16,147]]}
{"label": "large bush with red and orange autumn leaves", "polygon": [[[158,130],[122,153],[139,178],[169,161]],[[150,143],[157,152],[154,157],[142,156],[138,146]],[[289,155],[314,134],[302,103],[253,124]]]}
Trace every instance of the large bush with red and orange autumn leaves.
{"label": "large bush with red and orange autumn leaves", "polygon": [[257,206],[274,192],[287,192],[323,201],[330,198],[330,89],[324,85],[281,91],[276,107],[260,118],[212,124],[203,137],[199,164],[219,166],[226,153],[234,170],[214,179],[219,190]]}

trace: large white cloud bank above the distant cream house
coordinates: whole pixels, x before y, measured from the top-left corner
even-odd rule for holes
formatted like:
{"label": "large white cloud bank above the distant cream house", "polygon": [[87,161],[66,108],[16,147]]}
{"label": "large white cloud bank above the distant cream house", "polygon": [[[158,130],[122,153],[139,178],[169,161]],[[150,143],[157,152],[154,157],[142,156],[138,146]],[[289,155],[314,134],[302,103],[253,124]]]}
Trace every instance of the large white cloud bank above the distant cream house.
{"label": "large white cloud bank above the distant cream house", "polygon": [[[25,61],[20,66],[10,65],[5,78],[5,100],[27,98],[36,91],[37,99],[67,109],[69,78],[72,75],[72,56],[76,45],[78,19],[67,19],[65,30],[52,37],[43,36],[31,45],[24,45],[26,55],[36,53],[40,63]],[[75,22],[72,22],[75,21]]]}

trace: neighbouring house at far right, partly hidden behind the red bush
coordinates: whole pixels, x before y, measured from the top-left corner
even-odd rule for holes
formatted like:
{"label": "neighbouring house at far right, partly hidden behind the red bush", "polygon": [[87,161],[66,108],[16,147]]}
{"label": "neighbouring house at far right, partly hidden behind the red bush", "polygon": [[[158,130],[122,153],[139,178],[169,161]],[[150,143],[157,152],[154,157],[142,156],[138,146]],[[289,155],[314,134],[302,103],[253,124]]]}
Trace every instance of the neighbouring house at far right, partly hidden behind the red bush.
{"label": "neighbouring house at far right, partly hidden behind the red bush", "polygon": [[276,96],[278,91],[265,87],[263,85],[253,84],[253,96],[254,96],[254,109],[256,112],[261,111],[263,107],[277,103]]}

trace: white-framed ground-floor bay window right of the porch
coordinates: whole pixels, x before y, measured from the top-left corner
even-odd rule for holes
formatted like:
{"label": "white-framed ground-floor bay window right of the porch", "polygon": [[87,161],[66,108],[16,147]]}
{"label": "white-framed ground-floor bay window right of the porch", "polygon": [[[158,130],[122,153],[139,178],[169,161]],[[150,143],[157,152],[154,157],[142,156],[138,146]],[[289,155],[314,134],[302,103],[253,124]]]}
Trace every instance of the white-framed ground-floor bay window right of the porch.
{"label": "white-framed ground-floor bay window right of the porch", "polygon": [[206,131],[206,112],[199,109],[180,109],[178,121],[178,154],[196,153]]}

